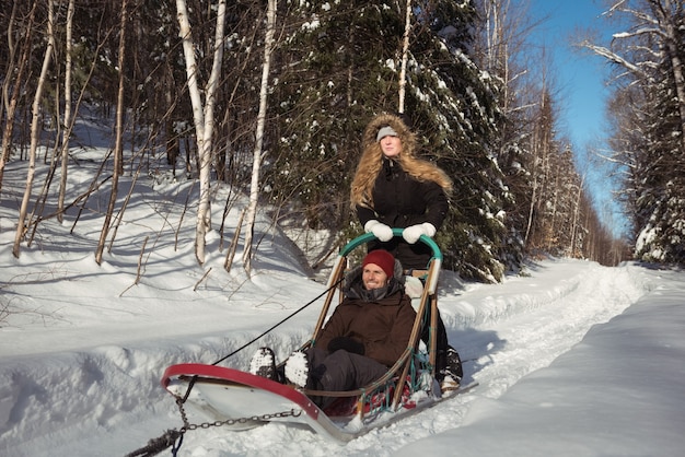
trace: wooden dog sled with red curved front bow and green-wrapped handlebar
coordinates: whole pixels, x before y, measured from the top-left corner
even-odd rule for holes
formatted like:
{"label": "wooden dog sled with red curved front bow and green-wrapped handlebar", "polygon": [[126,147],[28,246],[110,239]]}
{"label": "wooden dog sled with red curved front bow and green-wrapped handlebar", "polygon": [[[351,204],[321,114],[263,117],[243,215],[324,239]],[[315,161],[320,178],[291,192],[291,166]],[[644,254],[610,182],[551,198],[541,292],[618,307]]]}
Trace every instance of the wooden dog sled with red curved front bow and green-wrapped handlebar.
{"label": "wooden dog sled with red curved front bow and green-wrapped handlebar", "polygon": [[[402,228],[393,228],[394,236],[402,236]],[[364,234],[340,250],[327,283],[328,292],[312,338],[301,350],[316,344],[316,337],[328,316],[335,295],[339,296],[339,302],[342,301],[341,284],[347,274],[348,257],[357,247],[374,239],[373,234]],[[217,364],[172,365],[165,371],[162,385],[176,398],[185,423],[184,429],[221,425],[241,431],[268,422],[283,422],[304,424],[329,440],[345,443],[446,398],[448,396],[440,395],[434,379],[438,316],[436,291],[442,254],[428,236],[422,235],[419,242],[428,245],[432,255],[427,270],[421,273],[425,274],[425,286],[415,304],[417,318],[407,348],[383,377],[356,390],[320,391],[295,388]],[[432,312],[428,313],[431,308]],[[429,315],[431,318],[427,319],[426,316]],[[425,325],[430,327],[427,345],[420,342]],[[419,351],[420,345],[422,351]],[[452,395],[474,386],[463,387]],[[310,399],[314,396],[338,398],[322,410]],[[190,425],[190,409],[194,413],[204,415],[207,422]]]}

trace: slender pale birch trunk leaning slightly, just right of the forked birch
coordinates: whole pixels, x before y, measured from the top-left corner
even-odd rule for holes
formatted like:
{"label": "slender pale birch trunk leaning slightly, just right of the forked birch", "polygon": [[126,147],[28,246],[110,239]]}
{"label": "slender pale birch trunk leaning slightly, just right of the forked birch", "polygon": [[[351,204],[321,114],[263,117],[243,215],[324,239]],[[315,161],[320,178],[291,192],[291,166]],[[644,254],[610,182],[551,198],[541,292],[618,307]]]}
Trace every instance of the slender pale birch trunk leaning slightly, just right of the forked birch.
{"label": "slender pale birch trunk leaning slightly, just right of the forked birch", "polygon": [[262,89],[259,91],[259,113],[257,115],[257,131],[252,164],[252,181],[249,185],[249,204],[247,207],[245,250],[243,251],[243,268],[247,276],[252,272],[252,239],[255,233],[257,199],[259,197],[259,165],[262,164],[262,144],[264,142],[264,125],[266,121],[267,94],[269,86],[269,66],[274,47],[274,30],[276,26],[276,0],[268,0],[266,40],[264,44],[264,63],[262,67]]}

